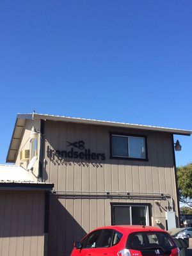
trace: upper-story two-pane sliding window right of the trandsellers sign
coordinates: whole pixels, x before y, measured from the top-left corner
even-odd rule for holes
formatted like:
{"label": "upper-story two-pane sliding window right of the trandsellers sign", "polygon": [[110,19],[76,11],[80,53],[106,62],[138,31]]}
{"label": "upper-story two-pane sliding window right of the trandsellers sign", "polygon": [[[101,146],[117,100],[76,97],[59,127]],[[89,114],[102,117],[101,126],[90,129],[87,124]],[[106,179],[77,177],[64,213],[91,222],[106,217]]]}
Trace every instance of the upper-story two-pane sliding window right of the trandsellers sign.
{"label": "upper-story two-pane sliding window right of the trandsellers sign", "polygon": [[111,157],[146,159],[145,138],[111,134]]}

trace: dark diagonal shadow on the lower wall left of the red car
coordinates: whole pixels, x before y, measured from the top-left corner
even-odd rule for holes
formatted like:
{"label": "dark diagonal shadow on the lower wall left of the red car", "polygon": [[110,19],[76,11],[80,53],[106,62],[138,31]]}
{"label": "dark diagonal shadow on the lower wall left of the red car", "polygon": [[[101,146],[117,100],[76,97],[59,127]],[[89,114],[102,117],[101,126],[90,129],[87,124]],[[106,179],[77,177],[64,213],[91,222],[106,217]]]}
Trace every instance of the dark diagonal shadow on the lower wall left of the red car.
{"label": "dark diagonal shadow on the lower wall left of the red car", "polygon": [[70,255],[74,241],[80,241],[86,232],[61,204],[58,196],[50,196],[49,209],[51,211],[49,211],[48,255]]}

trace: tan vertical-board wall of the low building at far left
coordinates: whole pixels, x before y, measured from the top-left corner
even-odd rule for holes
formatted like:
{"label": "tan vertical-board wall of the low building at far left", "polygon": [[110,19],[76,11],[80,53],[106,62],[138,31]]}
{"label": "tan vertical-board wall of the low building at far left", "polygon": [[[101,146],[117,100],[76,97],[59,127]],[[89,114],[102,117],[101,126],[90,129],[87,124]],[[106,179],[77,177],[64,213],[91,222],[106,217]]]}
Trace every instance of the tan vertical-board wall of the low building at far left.
{"label": "tan vertical-board wall of the low building at far left", "polygon": [[44,255],[44,193],[0,191],[0,255]]}

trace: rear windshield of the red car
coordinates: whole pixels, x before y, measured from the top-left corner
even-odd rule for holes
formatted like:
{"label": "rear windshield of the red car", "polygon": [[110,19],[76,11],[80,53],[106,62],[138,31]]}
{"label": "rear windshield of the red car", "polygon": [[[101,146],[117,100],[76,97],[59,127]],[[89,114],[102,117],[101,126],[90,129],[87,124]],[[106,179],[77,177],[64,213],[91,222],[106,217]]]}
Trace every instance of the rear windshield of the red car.
{"label": "rear windshield of the red car", "polygon": [[165,232],[136,232],[129,235],[127,248],[137,250],[163,248],[164,250],[172,250],[175,248],[175,243],[172,237]]}

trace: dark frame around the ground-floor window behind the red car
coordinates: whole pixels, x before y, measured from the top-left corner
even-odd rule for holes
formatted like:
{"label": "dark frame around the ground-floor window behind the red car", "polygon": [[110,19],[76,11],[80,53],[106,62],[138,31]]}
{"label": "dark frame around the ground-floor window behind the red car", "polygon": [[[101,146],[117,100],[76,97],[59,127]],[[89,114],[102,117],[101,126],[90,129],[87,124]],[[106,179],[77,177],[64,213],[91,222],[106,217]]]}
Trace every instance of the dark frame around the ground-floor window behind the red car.
{"label": "dark frame around the ground-floor window behind the red car", "polygon": [[152,205],[150,203],[110,203],[111,205],[111,226],[115,225],[115,206],[148,206],[148,224],[152,225]]}

